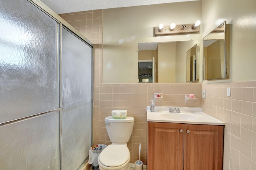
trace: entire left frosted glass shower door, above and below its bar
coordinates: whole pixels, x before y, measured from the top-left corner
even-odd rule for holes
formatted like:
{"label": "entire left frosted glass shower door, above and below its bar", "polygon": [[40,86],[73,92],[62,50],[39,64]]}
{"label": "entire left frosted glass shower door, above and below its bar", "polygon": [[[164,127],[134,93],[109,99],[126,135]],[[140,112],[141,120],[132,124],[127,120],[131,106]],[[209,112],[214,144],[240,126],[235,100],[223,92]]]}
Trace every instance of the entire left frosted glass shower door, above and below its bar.
{"label": "entire left frosted glass shower door, above and below its bar", "polygon": [[0,169],[60,169],[60,24],[0,0]]}

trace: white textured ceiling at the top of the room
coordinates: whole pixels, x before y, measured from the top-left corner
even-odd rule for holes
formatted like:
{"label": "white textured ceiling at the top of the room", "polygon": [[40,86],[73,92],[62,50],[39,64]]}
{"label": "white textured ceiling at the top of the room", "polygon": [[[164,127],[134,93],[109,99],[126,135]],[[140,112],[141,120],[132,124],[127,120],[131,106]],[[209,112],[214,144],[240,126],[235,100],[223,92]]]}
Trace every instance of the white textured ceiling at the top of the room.
{"label": "white textured ceiling at the top of the room", "polygon": [[57,14],[192,0],[41,0]]}

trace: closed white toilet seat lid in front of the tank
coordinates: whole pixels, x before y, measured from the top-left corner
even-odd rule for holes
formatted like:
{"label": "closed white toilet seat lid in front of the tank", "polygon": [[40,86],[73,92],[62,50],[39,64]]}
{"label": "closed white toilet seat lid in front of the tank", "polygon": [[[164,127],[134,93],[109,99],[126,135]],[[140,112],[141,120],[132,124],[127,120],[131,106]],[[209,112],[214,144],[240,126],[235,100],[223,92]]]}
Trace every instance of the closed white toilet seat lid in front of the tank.
{"label": "closed white toilet seat lid in front of the tank", "polygon": [[110,144],[102,150],[98,162],[106,167],[119,167],[130,162],[130,151],[125,145]]}

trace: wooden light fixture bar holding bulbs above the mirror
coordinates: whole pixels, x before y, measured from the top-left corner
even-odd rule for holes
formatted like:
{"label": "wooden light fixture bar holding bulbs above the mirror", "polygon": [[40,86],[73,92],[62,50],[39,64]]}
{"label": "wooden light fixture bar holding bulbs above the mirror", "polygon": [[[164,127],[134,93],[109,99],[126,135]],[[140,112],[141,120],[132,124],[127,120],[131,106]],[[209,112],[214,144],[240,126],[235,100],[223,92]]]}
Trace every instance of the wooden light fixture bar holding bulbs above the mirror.
{"label": "wooden light fixture bar holding bulbs above the mirror", "polygon": [[[182,30],[182,26],[185,28]],[[179,35],[179,34],[194,34],[200,32],[200,25],[197,26],[195,29],[192,27],[194,24],[182,24],[176,25],[174,30],[170,30],[170,26],[164,26],[164,28],[159,31],[159,27],[154,28],[154,36],[168,36],[168,35]]]}

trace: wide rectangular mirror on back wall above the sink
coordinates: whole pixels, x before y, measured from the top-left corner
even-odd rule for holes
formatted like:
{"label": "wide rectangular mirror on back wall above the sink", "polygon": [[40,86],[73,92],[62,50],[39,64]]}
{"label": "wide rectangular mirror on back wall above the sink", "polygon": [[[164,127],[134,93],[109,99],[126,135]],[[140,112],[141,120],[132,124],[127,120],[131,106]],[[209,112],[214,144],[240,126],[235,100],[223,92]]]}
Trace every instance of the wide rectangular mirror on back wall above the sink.
{"label": "wide rectangular mirror on back wall above the sink", "polygon": [[196,43],[202,44],[202,40],[138,43],[138,82],[198,82]]}

